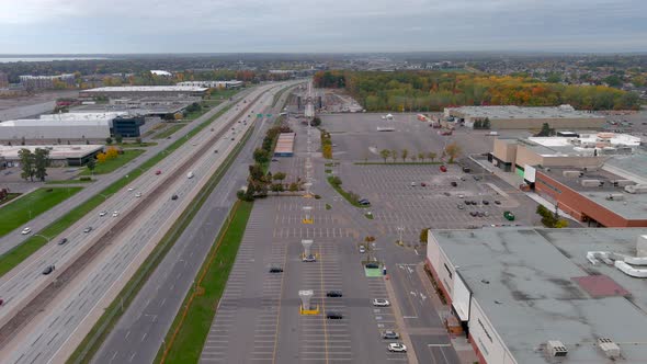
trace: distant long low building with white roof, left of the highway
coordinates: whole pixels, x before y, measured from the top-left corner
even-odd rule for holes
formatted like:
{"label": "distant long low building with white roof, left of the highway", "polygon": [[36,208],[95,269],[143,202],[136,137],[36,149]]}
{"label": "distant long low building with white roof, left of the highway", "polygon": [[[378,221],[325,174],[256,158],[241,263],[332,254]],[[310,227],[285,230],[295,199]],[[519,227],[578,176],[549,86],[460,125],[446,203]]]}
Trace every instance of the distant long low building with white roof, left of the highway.
{"label": "distant long low building with white roof, left of the highway", "polygon": [[79,98],[141,98],[141,96],[174,96],[174,98],[202,98],[208,88],[193,86],[124,86],[105,87],[83,90]]}

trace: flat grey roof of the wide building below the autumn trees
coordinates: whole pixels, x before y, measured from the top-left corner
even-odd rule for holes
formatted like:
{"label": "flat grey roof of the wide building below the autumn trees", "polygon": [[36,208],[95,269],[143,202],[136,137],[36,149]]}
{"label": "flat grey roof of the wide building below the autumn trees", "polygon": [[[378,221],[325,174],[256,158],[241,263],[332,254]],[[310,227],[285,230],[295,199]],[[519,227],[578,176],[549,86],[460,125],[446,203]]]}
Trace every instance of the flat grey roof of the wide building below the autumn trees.
{"label": "flat grey roof of the wide building below the autumn trees", "polygon": [[461,106],[449,107],[450,113],[457,112],[468,117],[489,117],[490,120],[501,118],[604,118],[604,116],[597,115],[586,111],[572,109],[570,105],[561,106]]}

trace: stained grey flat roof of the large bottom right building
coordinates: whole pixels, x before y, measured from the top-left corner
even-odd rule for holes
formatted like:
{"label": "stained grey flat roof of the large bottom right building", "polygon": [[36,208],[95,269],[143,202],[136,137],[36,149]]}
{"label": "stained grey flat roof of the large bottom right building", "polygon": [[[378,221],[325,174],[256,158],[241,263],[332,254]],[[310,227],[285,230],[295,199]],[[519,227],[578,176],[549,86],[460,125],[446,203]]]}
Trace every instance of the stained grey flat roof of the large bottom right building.
{"label": "stained grey flat roof of the large bottom right building", "polygon": [[[518,363],[547,363],[538,350],[547,340],[567,346],[564,363],[609,363],[595,346],[598,338],[618,343],[626,363],[647,357],[647,281],[587,260],[589,251],[635,257],[636,239],[647,228],[432,235]],[[602,286],[592,289],[591,282]]]}

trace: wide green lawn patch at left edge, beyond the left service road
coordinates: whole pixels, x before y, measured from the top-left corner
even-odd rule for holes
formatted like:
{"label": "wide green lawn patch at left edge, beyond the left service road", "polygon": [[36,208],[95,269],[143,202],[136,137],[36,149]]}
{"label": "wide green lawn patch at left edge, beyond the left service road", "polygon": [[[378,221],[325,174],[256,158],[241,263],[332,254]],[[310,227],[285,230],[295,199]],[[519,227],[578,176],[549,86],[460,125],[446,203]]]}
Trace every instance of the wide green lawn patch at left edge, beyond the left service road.
{"label": "wide green lawn patch at left edge, beyond the left service road", "polygon": [[13,231],[81,190],[82,187],[42,187],[0,207],[0,221],[2,221],[0,224],[0,237]]}

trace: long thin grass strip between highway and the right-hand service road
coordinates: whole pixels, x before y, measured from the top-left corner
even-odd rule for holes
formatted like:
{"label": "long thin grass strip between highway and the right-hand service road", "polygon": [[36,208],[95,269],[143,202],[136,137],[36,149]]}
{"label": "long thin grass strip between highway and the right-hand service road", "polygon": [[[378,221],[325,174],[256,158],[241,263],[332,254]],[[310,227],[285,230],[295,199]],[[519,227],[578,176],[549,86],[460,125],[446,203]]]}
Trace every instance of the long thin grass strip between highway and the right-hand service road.
{"label": "long thin grass strip between highway and the right-hand service road", "polygon": [[[75,350],[66,363],[90,363],[97,351],[103,344],[107,334],[112,331],[114,326],[118,322],[122,315],[126,311],[133,299],[137,296],[137,293],[148,277],[155,272],[155,269],[164,259],[166,254],[171,250],[178,238],[182,235],[184,229],[189,226],[195,214],[200,211],[202,205],[206,202],[209,194],[220,182],[220,179],[229,167],[236,160],[236,157],[251,137],[253,127],[249,128],[241,141],[236,146],[225,162],[216,170],[216,172],[209,178],[209,181],[201,190],[197,196],[189,205],[189,207],[180,215],[175,220],[171,229],[164,235],[161,241],[155,247],[152,252],[144,261],[141,266],[135,272],[133,277],[126,283],[122,292],[120,292],[117,298],[110,304],[104,310],[104,314],[94,323],[90,332],[86,335],[81,344]],[[179,141],[179,140],[178,140]]]}

